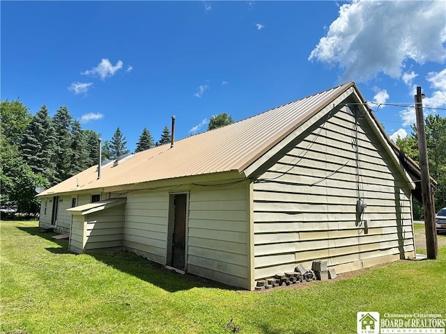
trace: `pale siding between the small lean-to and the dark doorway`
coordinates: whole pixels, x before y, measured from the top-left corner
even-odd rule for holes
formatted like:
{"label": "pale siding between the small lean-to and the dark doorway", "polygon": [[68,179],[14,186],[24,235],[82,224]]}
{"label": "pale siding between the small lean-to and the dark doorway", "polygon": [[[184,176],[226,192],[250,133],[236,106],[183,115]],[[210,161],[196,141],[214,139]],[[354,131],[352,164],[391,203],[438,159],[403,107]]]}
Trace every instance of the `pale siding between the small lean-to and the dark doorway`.
{"label": "pale siding between the small lean-to and the dark doorway", "polygon": [[130,193],[125,205],[125,248],[166,264],[168,216],[169,193]]}

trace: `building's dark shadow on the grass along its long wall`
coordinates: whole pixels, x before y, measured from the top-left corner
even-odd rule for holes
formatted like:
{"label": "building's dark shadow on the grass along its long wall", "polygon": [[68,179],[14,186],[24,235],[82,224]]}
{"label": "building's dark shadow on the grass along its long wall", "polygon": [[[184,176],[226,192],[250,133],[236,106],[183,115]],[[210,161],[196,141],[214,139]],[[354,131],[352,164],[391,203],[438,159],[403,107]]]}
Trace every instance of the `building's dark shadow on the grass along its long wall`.
{"label": "building's dark shadow on the grass along its long wall", "polygon": [[[32,227],[23,228],[17,227],[31,235],[36,235],[43,239],[52,241],[59,247],[47,247],[45,248],[54,254],[75,254],[68,250],[68,240],[55,240],[52,236],[57,235],[55,232],[40,232],[42,228]],[[144,257],[136,255],[134,253],[126,252],[125,250],[90,250],[86,253],[95,260],[98,260],[109,267],[112,267],[123,273],[128,273],[134,277],[151,283],[160,289],[164,289],[167,292],[177,292],[181,290],[193,289],[194,287],[206,287],[206,288],[218,288],[232,290],[235,287],[217,283],[213,280],[207,280],[199,276],[192,274],[180,274],[175,271],[166,269],[162,264],[151,262]]]}

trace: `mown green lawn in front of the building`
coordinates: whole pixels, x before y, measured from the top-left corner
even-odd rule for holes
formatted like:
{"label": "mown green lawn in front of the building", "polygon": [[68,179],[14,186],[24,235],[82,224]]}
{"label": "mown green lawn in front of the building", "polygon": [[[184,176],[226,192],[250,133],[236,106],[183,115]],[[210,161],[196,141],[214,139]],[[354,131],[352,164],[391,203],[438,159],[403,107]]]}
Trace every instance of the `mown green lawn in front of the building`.
{"label": "mown green lawn in front of the building", "polygon": [[131,253],[74,255],[1,222],[1,333],[356,333],[356,312],[446,315],[446,247],[346,279],[245,292]]}

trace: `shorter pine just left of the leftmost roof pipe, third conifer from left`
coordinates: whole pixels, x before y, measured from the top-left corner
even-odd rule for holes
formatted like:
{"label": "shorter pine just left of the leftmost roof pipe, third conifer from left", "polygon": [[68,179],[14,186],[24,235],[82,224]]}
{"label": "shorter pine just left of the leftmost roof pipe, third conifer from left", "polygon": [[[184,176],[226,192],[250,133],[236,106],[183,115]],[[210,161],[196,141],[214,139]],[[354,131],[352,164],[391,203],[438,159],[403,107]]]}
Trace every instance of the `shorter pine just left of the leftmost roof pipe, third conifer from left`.
{"label": "shorter pine just left of the leftmost roof pipe, third conifer from left", "polygon": [[89,167],[89,154],[87,152],[86,138],[79,120],[72,122],[71,138],[70,173],[71,175],[76,175]]}

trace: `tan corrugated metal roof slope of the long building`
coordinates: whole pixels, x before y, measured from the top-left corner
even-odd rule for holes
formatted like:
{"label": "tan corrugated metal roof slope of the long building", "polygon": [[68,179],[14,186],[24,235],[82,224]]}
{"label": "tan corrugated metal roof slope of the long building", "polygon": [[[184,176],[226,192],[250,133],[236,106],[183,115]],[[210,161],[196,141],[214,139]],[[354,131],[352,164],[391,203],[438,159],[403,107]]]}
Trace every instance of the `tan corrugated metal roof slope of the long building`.
{"label": "tan corrugated metal roof slope of the long building", "polygon": [[93,166],[38,196],[231,170],[241,173],[272,145],[352,86],[355,84],[349,82],[232,125],[181,139],[173,148],[162,145],[139,152],[118,166],[102,167],[99,180],[97,166]]}

